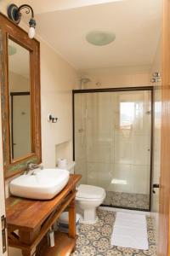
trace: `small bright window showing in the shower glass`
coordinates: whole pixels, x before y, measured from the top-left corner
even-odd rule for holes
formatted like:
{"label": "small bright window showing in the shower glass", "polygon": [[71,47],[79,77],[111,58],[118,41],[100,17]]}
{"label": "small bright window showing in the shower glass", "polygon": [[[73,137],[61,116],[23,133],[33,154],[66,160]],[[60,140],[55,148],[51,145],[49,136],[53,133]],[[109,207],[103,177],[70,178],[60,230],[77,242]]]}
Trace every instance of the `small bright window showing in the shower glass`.
{"label": "small bright window showing in the shower glass", "polygon": [[120,102],[121,129],[131,130],[133,128],[134,108],[134,102]]}

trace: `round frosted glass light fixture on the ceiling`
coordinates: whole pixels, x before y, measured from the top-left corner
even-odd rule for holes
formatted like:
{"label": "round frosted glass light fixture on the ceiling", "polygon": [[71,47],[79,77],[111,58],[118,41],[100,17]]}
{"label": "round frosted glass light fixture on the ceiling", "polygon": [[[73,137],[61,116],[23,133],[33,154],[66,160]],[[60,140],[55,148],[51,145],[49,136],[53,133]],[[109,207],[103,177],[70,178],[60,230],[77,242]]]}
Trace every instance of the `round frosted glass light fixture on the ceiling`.
{"label": "round frosted glass light fixture on the ceiling", "polygon": [[90,44],[103,46],[115,41],[116,35],[111,32],[92,31],[87,34],[86,39]]}

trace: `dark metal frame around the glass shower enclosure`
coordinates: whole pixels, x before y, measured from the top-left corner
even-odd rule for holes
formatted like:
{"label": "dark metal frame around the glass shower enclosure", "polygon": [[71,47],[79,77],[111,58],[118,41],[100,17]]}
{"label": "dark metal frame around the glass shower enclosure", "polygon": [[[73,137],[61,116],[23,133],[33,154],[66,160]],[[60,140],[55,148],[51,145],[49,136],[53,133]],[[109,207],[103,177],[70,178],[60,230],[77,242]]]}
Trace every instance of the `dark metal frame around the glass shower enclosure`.
{"label": "dark metal frame around the glass shower enclosure", "polygon": [[115,207],[127,210],[136,210],[150,212],[152,202],[152,178],[153,178],[153,134],[154,134],[154,88],[153,86],[136,86],[136,87],[116,87],[116,88],[100,88],[100,89],[81,89],[72,90],[72,138],[73,138],[73,160],[75,160],[75,95],[78,93],[96,93],[96,92],[119,92],[119,91],[136,91],[150,90],[151,92],[151,132],[150,132],[150,203],[149,209],[133,208],[133,207],[118,207],[112,205],[102,205],[105,207]]}

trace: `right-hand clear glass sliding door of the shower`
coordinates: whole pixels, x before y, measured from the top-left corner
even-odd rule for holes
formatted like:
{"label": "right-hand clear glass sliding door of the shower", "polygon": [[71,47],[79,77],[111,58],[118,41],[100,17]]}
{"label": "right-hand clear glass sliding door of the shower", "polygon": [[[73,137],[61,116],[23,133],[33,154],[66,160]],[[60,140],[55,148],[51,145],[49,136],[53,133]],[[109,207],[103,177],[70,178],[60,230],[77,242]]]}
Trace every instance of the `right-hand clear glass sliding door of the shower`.
{"label": "right-hand clear glass sliding door of the shower", "polygon": [[112,94],[111,183],[106,205],[150,209],[151,92]]}

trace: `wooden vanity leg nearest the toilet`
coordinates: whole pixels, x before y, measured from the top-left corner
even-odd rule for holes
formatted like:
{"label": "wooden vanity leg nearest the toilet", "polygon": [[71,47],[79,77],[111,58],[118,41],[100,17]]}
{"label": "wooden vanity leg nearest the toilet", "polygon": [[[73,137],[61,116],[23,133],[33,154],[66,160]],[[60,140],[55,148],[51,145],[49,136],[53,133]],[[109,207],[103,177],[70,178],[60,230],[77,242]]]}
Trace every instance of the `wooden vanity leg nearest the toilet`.
{"label": "wooden vanity leg nearest the toilet", "polygon": [[76,206],[75,206],[75,199],[71,201],[69,207],[69,236],[71,238],[76,238]]}

